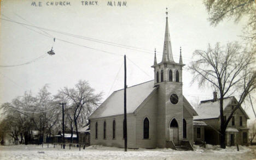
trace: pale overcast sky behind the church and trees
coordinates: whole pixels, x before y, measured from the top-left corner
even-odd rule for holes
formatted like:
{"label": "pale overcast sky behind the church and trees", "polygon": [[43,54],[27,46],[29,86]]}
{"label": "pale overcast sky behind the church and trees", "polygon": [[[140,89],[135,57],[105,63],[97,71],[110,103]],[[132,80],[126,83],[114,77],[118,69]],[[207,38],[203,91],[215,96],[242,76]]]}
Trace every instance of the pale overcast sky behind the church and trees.
{"label": "pale overcast sky behind the church and trees", "polygon": [[[31,5],[32,2],[36,2],[37,6]],[[38,6],[39,2],[41,7]],[[105,100],[114,90],[123,88],[124,54],[128,58],[128,86],[152,80],[154,72],[150,66],[154,62],[154,48],[158,52],[158,63],[162,56],[166,7],[174,61],[178,62],[181,46],[183,63],[187,65],[193,60],[193,51],[205,50],[208,43],[242,42],[239,35],[242,35],[245,24],[243,20],[238,24],[224,21],[217,27],[210,26],[202,1],[129,0],[121,7],[110,7],[108,1],[103,0],[97,1],[97,5],[95,2],[95,5],[83,5],[85,2],[72,0],[66,1],[70,5],[48,6],[47,2],[1,2],[2,19],[48,30],[43,32],[43,29],[1,20],[1,65],[22,64],[40,58],[26,65],[0,67],[0,103],[10,102],[25,91],[31,90],[37,94],[46,83],[54,95],[60,88],[74,87],[79,79],[88,81],[96,93],[103,91]],[[87,2],[89,4],[90,1]],[[100,42],[63,35],[53,30]],[[53,37],[56,38],[55,43]],[[107,45],[103,41],[137,49]],[[46,52],[53,44],[56,54],[49,56]],[[184,96],[190,102],[211,99],[212,90],[199,89],[196,83],[190,85],[191,77],[190,72],[184,68]],[[251,106],[247,108],[247,113],[253,118]]]}

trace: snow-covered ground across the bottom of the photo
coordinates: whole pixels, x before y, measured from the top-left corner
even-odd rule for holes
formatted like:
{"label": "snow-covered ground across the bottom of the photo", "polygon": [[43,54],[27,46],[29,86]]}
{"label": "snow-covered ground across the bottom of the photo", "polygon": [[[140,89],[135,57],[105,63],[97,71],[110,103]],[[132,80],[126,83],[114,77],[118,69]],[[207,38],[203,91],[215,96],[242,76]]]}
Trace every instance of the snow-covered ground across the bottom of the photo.
{"label": "snow-covered ground across the bottom of the photo", "polygon": [[[218,146],[207,145],[206,149],[194,146],[194,151],[175,151],[172,149],[124,149],[106,146],[89,146],[85,150],[72,147],[61,149],[60,145],[9,145],[0,146],[0,159],[254,159],[256,146],[253,149],[240,146],[220,149]],[[254,153],[253,153],[254,152]]]}

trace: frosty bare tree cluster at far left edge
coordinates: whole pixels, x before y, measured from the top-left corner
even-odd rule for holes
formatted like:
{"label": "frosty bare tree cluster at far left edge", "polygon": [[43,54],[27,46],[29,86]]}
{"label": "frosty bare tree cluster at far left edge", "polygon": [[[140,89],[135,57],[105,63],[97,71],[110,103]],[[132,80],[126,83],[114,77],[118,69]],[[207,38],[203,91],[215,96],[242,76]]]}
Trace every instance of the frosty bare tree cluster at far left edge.
{"label": "frosty bare tree cluster at far left edge", "polygon": [[45,133],[50,137],[53,127],[59,121],[60,109],[55,106],[47,85],[40,89],[36,97],[31,92],[25,92],[11,103],[2,104],[5,115],[3,121],[8,122],[7,131],[15,143],[19,141],[27,144],[31,130],[38,130],[41,140]]}

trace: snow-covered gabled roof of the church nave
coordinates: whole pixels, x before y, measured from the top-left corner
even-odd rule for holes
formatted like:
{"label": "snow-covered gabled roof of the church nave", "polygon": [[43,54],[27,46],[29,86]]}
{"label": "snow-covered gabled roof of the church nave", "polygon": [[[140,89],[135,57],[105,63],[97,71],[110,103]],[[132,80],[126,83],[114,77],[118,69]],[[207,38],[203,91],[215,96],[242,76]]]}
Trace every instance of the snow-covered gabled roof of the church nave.
{"label": "snow-covered gabled roof of the church nave", "polygon": [[[127,88],[126,112],[133,113],[155,89],[154,81],[144,82]],[[90,119],[119,114],[124,114],[124,89],[114,91],[107,100],[91,114]]]}

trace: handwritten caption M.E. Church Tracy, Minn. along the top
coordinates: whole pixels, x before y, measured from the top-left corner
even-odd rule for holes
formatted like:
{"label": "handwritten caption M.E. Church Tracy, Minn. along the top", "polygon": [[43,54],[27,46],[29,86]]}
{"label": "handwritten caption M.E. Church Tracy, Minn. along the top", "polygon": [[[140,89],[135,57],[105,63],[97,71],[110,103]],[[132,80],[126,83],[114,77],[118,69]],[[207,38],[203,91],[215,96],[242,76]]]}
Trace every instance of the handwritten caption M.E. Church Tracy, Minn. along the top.
{"label": "handwritten caption M.E. Church Tracy, Minn. along the top", "polygon": [[[107,1],[107,2],[99,2],[99,1],[80,1],[81,5],[89,6],[89,5],[108,5],[111,7],[127,7],[126,1]],[[32,2],[31,6],[33,7],[43,7],[43,6],[71,6],[72,3],[69,1],[47,1],[47,2]]]}

